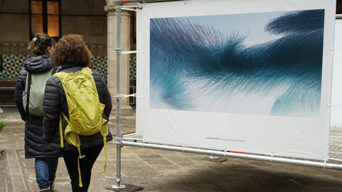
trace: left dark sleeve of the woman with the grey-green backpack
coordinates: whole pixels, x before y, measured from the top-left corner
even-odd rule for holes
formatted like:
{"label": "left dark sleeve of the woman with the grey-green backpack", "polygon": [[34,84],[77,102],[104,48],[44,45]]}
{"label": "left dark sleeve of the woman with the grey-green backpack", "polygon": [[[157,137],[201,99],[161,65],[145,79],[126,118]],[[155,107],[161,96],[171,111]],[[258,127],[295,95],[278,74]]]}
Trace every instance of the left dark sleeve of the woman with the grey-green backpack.
{"label": "left dark sleeve of the woman with the grey-green backpack", "polygon": [[16,90],[14,92],[14,100],[17,104],[18,111],[20,113],[21,119],[26,121],[26,112],[22,103],[22,92],[25,91],[27,71],[22,68],[19,72],[19,77],[17,79]]}

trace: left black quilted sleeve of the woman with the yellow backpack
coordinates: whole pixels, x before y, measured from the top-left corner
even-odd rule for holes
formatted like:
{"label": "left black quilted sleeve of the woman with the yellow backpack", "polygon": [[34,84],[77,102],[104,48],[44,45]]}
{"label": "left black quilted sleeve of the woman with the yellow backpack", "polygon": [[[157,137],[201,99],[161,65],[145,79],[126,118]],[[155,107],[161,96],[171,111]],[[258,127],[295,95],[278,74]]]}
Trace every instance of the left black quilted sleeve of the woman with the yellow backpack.
{"label": "left black quilted sleeve of the woman with the yellow backpack", "polygon": [[55,135],[61,115],[60,89],[55,79],[56,77],[50,77],[46,81],[43,99],[43,138],[46,142]]}

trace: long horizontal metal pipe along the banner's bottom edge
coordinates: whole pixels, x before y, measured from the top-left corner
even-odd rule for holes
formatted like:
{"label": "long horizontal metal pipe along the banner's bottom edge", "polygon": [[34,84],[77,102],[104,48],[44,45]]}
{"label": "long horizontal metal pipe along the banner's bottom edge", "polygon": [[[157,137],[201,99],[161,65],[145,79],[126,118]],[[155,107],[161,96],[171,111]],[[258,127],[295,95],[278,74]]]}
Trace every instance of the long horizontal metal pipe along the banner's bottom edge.
{"label": "long horizontal metal pipe along the banner's bottom edge", "polygon": [[176,152],[185,152],[192,154],[208,154],[215,156],[226,156],[240,159],[250,159],[250,160],[258,160],[258,161],[267,161],[274,163],[283,163],[283,164],[291,164],[291,165],[302,165],[308,167],[318,167],[325,169],[333,169],[333,170],[342,170],[342,165],[332,164],[332,163],[322,163],[315,161],[304,161],[299,159],[286,159],[279,157],[271,157],[271,156],[261,156],[255,154],[237,154],[237,153],[227,153],[213,150],[205,150],[205,149],[195,149],[195,148],[186,148],[186,147],[176,147],[176,146],[167,146],[167,145],[158,145],[158,144],[150,144],[150,143],[137,143],[130,141],[122,141],[123,146],[131,146],[131,147],[142,147],[142,148],[150,148],[150,149],[160,149],[160,150],[168,150],[168,151],[176,151]]}

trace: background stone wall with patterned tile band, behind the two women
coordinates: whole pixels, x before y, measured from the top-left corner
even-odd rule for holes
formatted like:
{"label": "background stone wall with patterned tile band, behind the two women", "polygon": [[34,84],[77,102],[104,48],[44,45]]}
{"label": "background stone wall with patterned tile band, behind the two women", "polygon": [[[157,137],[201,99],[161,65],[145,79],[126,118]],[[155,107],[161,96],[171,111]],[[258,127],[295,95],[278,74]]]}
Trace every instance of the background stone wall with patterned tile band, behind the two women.
{"label": "background stone wall with patterned tile band, behind the two women", "polygon": [[[0,94],[4,98],[9,98],[13,93],[1,88],[14,87],[23,62],[32,57],[31,52],[27,50],[31,40],[29,1],[0,1]],[[107,5],[105,0],[61,0],[61,37],[70,33],[82,35],[92,53],[93,68],[105,80],[108,80],[107,54],[111,50],[107,50],[108,20],[104,10],[105,5]],[[126,25],[130,25],[129,20],[127,17]],[[115,20],[111,22],[115,22]],[[130,32],[126,35],[129,37]],[[112,52],[115,53],[114,50]],[[127,76],[129,79],[135,79],[135,56],[131,55],[126,61],[129,62]],[[4,98],[0,98],[0,104],[8,103],[8,101],[4,102]],[[13,97],[9,99],[12,100]]]}

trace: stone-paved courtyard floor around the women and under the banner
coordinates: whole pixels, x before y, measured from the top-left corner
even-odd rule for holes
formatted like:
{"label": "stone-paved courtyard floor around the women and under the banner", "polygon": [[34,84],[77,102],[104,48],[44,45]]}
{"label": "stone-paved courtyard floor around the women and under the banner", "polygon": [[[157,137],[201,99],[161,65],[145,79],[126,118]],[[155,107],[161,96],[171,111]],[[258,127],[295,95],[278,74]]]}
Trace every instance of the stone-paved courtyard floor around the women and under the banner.
{"label": "stone-paved courtyard floor around the women and under the banner", "polygon": [[[1,132],[0,151],[10,147],[19,150],[32,191],[38,191],[34,159],[24,159],[24,123],[15,108],[4,108],[7,125]],[[110,120],[115,134],[115,119]],[[122,119],[122,132],[134,132],[135,118]],[[103,172],[104,152],[93,170],[89,192],[104,192],[116,184],[116,147],[108,142],[111,170]],[[206,155],[123,147],[122,182],[144,187],[146,192],[341,192],[342,171],[302,167],[270,162],[228,158],[223,163],[203,161]],[[2,175],[0,166],[0,181]],[[70,179],[60,158],[55,192],[70,192]],[[1,188],[0,191],[4,191]]]}

